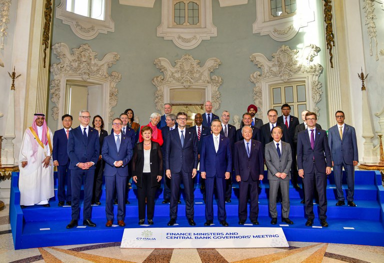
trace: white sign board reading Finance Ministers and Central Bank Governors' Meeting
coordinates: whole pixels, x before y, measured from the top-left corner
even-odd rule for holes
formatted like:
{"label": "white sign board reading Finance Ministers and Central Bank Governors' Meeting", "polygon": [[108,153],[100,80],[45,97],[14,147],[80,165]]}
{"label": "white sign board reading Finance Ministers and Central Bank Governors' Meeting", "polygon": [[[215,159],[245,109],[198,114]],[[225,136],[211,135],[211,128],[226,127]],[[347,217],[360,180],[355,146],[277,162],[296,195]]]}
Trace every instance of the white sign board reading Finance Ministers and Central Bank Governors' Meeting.
{"label": "white sign board reading Finance Ministers and Central Bank Governors' Meeting", "polygon": [[121,248],[288,247],[281,227],[125,228]]}

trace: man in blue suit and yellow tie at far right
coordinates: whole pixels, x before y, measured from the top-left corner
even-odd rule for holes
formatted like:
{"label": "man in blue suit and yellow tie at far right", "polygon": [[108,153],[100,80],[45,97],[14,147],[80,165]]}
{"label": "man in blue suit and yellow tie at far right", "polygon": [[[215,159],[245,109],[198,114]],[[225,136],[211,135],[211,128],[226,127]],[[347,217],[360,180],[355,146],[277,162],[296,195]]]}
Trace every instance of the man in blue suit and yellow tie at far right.
{"label": "man in blue suit and yellow tie at far right", "polygon": [[342,167],[346,172],[346,183],[348,185],[348,206],[356,206],[353,202],[354,193],[354,166],[358,163],[357,139],[354,127],[345,124],[344,112],[336,111],[337,124],[328,130],[328,144],[332,153],[332,166],[334,183],[336,184],[337,202],[336,206],[344,205],[344,192],[342,191]]}

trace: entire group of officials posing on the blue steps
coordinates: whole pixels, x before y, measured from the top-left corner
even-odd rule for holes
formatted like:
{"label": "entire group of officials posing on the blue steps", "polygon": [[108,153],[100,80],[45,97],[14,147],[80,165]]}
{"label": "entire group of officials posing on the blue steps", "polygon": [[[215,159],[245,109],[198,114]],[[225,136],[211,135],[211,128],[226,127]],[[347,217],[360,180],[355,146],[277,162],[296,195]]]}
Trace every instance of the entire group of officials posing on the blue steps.
{"label": "entire group of officials posing on the blue steps", "polygon": [[[344,123],[342,111],[335,113],[337,124],[329,128],[327,135],[316,123],[316,113],[303,111],[303,123],[299,124],[298,118],[290,115],[288,104],[281,106],[281,116],[277,116],[275,109],[269,109],[269,121],[265,124],[255,117],[257,107],[249,105],[237,130],[228,124],[228,111],[224,110],[219,118],[212,113],[210,101],[204,103],[204,108],[203,114],[195,114],[195,126],[187,128],[187,114],[172,114],[172,106],[166,103],[164,115],[152,113],[150,122],[137,131],[140,132],[137,144],[137,132],[126,126],[124,118],[127,114],[122,113],[119,118],[113,119],[111,134],[104,136],[102,147],[100,131],[89,126],[88,111],[79,112],[80,125],[73,129],[72,116],[65,114],[62,117],[63,128],[57,130],[54,136],[46,125],[44,115],[36,113],[32,126],[24,133],[20,150],[20,205],[49,206],[48,199],[54,196],[54,164],[58,166],[59,185],[67,185],[66,194],[63,187],[59,186],[59,206],[66,199],[72,209],[71,221],[66,227],[72,228],[78,224],[82,182],[83,225],[96,226],[91,221],[91,203],[94,202],[92,190],[96,164],[102,158],[105,165],[102,171],[105,178],[106,226],[113,223],[113,201],[116,199],[117,224],[125,225],[125,185],[129,173],[133,175],[138,189],[139,224],[144,223],[145,205],[148,224],[153,224],[155,189],[157,182],[164,177],[162,203],[170,202],[167,225],[175,224],[177,219],[181,182],[184,185],[186,218],[189,225],[196,225],[193,179],[198,164],[205,201],[204,225],[213,223],[215,191],[219,223],[228,226],[225,202],[230,202],[233,176],[239,184],[238,224],[246,221],[249,199],[249,219],[252,224],[258,224],[258,184],[263,179],[264,163],[269,181],[271,224],[277,223],[276,199],[279,191],[281,221],[293,223],[288,217],[289,180],[299,188],[297,177],[300,176],[304,191],[302,202],[305,203],[307,217],[305,225],[313,224],[313,195],[317,190],[320,223],[328,226],[326,177],[332,166],[338,199],[336,205],[345,204],[341,184],[344,168],[347,174],[347,204],[356,206],[353,202],[354,166],[358,162],[356,134],[352,126]],[[62,133],[66,145],[55,141],[56,133]],[[65,140],[61,143],[65,143]],[[57,150],[64,146],[66,152]],[[98,199],[96,204],[99,204]]]}

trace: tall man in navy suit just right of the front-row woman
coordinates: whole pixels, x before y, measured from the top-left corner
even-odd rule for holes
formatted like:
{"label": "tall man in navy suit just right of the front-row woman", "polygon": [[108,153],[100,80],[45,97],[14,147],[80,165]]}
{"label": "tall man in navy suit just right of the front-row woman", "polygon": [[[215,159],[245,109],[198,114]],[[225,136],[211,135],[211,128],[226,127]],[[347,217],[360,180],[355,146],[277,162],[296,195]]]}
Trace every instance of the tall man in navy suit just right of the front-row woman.
{"label": "tall man in navy suit just right of the front-row woman", "polygon": [[189,225],[196,225],[193,220],[193,177],[197,173],[197,136],[186,129],[187,114],[178,112],[176,115],[177,128],[169,131],[165,145],[165,174],[170,178],[170,220],[173,225],[177,217],[177,201],[180,181],[184,185],[185,214]]}

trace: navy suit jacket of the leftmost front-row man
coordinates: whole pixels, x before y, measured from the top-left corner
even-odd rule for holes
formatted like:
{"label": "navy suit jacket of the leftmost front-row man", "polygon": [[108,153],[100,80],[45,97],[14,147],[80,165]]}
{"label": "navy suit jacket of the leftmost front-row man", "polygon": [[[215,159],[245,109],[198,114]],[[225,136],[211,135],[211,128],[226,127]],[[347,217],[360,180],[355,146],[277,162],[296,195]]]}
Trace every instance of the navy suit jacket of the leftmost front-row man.
{"label": "navy suit jacket of the leftmost front-row man", "polygon": [[[100,142],[98,140],[98,131],[89,126],[87,141],[84,141],[81,125],[69,131],[67,153],[70,159],[69,169],[81,170],[76,166],[79,162],[92,161],[97,163],[100,154]],[[95,169],[92,165],[89,169]]]}

